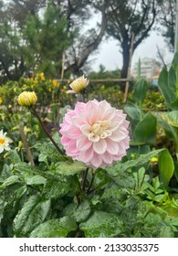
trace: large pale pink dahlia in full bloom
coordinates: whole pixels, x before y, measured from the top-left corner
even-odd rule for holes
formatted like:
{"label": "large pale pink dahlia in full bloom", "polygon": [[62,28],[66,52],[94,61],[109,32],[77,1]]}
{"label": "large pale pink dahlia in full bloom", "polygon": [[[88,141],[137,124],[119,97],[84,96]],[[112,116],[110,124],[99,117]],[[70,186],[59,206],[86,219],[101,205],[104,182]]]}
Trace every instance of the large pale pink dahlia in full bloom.
{"label": "large pale pink dahlia in full bloom", "polygon": [[67,155],[95,169],[121,160],[129,148],[126,114],[107,101],[78,102],[60,126]]}

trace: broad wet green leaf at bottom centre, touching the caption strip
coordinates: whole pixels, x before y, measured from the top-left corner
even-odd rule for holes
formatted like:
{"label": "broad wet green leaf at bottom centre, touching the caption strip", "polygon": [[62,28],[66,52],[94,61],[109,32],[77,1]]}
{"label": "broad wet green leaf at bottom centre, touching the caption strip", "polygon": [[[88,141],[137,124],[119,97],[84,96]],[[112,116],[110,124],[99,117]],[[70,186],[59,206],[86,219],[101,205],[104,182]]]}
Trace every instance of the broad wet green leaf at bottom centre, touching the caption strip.
{"label": "broad wet green leaf at bottom centre, touching the caption strip", "polygon": [[120,236],[123,223],[120,216],[104,211],[95,211],[84,223],[79,225],[86,238],[113,238]]}

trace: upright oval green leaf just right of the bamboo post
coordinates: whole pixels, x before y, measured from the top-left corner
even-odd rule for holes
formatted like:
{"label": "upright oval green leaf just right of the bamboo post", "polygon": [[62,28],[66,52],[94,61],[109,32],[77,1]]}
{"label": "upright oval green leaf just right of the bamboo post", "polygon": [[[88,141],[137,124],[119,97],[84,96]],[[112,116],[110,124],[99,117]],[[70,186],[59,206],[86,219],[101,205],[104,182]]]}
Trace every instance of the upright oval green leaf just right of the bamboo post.
{"label": "upright oval green leaf just right of the bamboo post", "polygon": [[135,85],[135,89],[132,93],[132,99],[133,101],[138,103],[141,103],[144,98],[146,97],[146,92],[148,90],[148,85],[146,80],[139,80],[137,81]]}

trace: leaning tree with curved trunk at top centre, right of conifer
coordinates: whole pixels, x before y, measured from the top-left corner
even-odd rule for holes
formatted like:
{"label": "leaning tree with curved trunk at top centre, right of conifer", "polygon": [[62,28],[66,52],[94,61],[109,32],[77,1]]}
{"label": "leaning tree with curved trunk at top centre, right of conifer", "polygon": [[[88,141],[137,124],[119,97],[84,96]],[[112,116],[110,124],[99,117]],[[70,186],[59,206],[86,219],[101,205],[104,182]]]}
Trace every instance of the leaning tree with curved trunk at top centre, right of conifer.
{"label": "leaning tree with curved trunk at top centre, right of conifer", "polygon": [[[66,52],[66,70],[70,69],[79,75],[81,69],[87,64],[89,56],[99,47],[105,35],[110,1],[58,0],[58,5],[62,6],[67,17],[68,30],[71,31],[75,28],[78,31],[72,47]],[[93,14],[98,16],[98,25],[88,29],[85,34],[82,33],[84,25],[89,22],[89,19],[92,19]]]}

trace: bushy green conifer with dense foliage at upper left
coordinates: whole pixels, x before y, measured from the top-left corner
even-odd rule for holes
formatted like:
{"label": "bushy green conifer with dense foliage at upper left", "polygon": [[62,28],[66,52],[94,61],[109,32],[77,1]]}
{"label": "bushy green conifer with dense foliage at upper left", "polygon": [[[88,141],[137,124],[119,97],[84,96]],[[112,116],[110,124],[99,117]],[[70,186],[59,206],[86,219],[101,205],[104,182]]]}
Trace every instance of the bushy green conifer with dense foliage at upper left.
{"label": "bushy green conifer with dense foliage at upper left", "polygon": [[24,29],[28,42],[26,60],[36,71],[46,76],[59,77],[62,66],[62,54],[71,45],[74,32],[67,31],[68,21],[60,12],[58,5],[49,1],[42,19],[39,16],[27,16]]}

